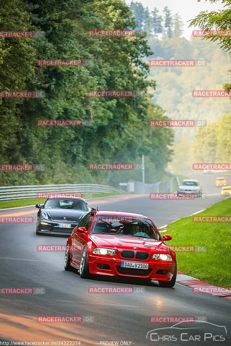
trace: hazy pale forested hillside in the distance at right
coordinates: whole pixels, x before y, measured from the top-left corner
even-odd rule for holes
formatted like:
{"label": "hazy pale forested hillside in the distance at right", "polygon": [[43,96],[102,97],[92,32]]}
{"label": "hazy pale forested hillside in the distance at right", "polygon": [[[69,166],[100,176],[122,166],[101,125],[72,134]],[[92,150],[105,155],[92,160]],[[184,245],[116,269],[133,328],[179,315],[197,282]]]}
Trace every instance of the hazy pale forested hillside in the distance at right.
{"label": "hazy pale forested hillside in the distance at right", "polygon": [[[223,11],[202,12],[192,21],[192,25],[200,29],[230,29],[230,22],[227,19],[231,13],[230,1],[225,0],[223,3]],[[150,67],[150,79],[156,80],[157,83],[156,90],[151,92],[152,102],[165,109],[165,114],[171,119],[206,120],[208,124],[199,131],[197,128],[174,130],[174,153],[168,164],[168,170],[172,173],[190,174],[192,162],[195,160],[216,162],[221,160],[221,157],[223,160],[226,157],[228,162],[230,124],[224,119],[230,118],[230,99],[194,98],[192,91],[230,89],[230,38],[201,39],[191,36],[190,39],[186,39],[183,37],[183,22],[179,14],[172,13],[167,6],[160,14],[154,4],[153,10],[150,11],[140,2],[132,1],[131,10],[136,16],[138,28],[146,31],[148,44],[153,52],[149,57],[144,57],[145,62],[148,63],[150,59],[206,61],[206,66],[203,67]],[[224,113],[227,115],[222,117]],[[223,124],[223,126],[214,128],[214,124]],[[220,138],[219,145],[216,145],[217,136]],[[228,156],[225,156],[226,154]]]}

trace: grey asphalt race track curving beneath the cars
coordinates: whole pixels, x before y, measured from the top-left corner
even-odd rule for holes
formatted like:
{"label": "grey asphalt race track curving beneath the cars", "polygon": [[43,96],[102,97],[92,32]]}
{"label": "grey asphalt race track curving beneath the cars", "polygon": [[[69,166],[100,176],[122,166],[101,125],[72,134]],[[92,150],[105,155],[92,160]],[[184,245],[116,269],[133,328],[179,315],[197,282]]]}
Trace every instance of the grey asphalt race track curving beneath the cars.
{"label": "grey asphalt race track curving beneath the cars", "polygon": [[[111,196],[89,201],[101,210],[119,210],[149,216],[157,226],[195,213],[222,200],[215,188],[219,174],[197,174],[205,199],[189,201],[153,201],[149,196]],[[231,184],[231,175],[226,175]],[[231,199],[230,199],[231,201]],[[21,208],[0,212],[0,216],[33,216],[34,224],[1,224],[1,287],[45,288],[45,294],[0,295],[1,340],[15,341],[79,341],[81,345],[110,345],[102,342],[126,342],[124,345],[230,345],[231,301],[209,294],[193,294],[192,289],[176,284],[160,288],[157,282],[96,277],[81,279],[76,272],[64,271],[64,252],[38,252],[40,244],[66,244],[66,238],[36,236],[37,209]],[[142,292],[132,294],[90,294],[89,286],[126,286]],[[139,290],[138,290],[139,291]],[[39,323],[37,316],[85,316],[94,322]],[[156,343],[146,339],[148,331],[172,324],[152,324],[150,316],[205,317],[207,322],[225,326],[224,342],[206,341]],[[191,325],[191,324],[190,324]],[[186,325],[187,326],[187,325]],[[207,333],[213,325],[205,324]],[[64,344],[63,344],[64,345]],[[70,345],[70,344],[69,344]],[[113,345],[111,343],[111,345]]]}

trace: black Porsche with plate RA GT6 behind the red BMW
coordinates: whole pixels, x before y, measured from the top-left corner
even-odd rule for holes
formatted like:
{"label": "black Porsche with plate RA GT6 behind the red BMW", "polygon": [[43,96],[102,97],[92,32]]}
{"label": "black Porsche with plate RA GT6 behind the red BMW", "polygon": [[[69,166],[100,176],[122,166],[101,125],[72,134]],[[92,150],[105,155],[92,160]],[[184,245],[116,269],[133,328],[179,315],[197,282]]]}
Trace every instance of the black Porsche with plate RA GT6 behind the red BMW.
{"label": "black Porsche with plate RA GT6 behind the red BMW", "polygon": [[48,198],[42,206],[36,204],[36,208],[36,234],[47,235],[70,235],[90,209],[83,198]]}

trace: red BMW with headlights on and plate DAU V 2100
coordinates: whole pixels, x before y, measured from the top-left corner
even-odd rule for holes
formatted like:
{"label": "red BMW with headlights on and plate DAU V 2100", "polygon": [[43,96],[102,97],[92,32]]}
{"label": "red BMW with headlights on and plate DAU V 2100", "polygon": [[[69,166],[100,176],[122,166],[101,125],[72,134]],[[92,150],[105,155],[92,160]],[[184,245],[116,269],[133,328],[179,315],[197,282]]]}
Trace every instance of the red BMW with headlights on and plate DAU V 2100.
{"label": "red BMW with headlights on and plate DAU V 2100", "polygon": [[157,280],[162,287],[176,282],[176,254],[157,227],[144,215],[91,211],[76,226],[66,244],[64,268],[92,274]]}

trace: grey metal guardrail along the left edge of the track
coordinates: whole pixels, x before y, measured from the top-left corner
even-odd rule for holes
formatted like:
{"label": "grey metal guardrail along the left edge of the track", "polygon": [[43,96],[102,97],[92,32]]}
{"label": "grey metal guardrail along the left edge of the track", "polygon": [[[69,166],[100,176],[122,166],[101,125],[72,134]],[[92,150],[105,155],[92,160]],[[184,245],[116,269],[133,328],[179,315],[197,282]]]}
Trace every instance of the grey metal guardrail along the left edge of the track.
{"label": "grey metal guardrail along the left edge of the track", "polygon": [[38,192],[79,192],[79,193],[110,193],[125,192],[108,185],[99,184],[54,184],[54,185],[22,185],[0,186],[0,201],[23,198],[37,198]]}

